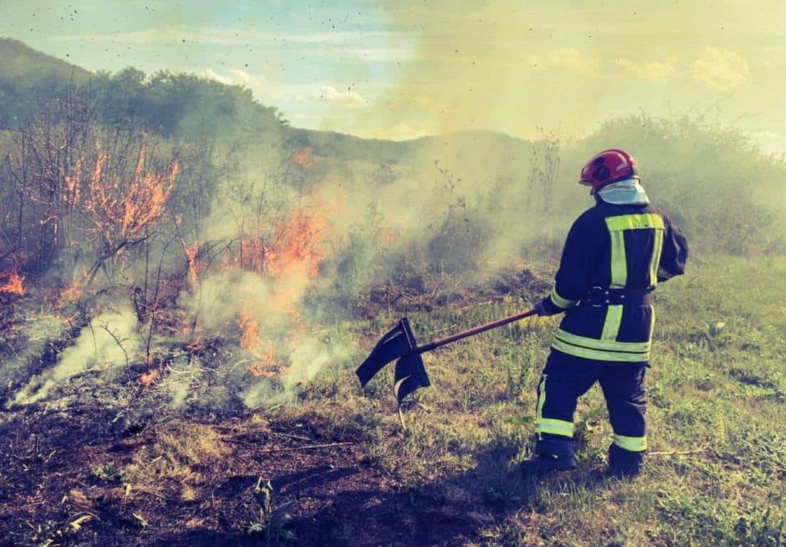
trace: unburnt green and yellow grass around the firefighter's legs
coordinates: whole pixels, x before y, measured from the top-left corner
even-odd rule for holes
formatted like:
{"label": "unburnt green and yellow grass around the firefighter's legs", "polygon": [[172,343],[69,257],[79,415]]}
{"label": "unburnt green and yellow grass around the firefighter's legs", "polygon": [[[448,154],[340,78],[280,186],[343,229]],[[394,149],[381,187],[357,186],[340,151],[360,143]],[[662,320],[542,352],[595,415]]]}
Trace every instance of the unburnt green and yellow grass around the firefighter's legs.
{"label": "unburnt green and yellow grass around the firefighter's legs", "polygon": [[[516,472],[531,455],[535,386],[558,318],[425,354],[433,386],[407,406],[406,430],[392,371],[362,394],[351,371],[325,370],[300,412],[353,424],[403,486],[477,504],[490,523],[455,545],[786,545],[786,260],[691,266],[657,292],[646,380],[656,454],[633,483],[601,475],[612,431],[597,387],[575,417],[579,469],[540,481]],[[508,299],[410,321],[422,343],[527,305]],[[395,319],[350,326],[381,333]],[[682,451],[696,452],[670,454]]]}

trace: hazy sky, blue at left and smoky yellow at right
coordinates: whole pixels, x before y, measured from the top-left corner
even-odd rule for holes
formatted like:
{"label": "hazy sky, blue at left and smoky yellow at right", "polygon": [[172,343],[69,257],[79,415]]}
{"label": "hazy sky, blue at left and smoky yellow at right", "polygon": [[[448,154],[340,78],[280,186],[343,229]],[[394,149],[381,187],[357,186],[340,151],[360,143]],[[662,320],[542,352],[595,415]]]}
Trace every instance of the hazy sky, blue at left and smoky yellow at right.
{"label": "hazy sky, blue at left and smoky yellow at right", "polygon": [[783,0],[0,0],[0,36],[241,84],[293,126],[366,138],[691,113],[786,151]]}

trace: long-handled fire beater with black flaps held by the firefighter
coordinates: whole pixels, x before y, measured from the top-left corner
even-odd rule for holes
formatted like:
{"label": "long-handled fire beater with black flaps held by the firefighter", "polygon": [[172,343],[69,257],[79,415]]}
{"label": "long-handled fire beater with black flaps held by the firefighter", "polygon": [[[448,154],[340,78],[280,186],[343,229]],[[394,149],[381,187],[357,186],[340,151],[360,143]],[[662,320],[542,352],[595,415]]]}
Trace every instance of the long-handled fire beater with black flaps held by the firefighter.
{"label": "long-handled fire beater with black flaps held by the firefighter", "polygon": [[511,315],[504,319],[498,319],[497,321],[491,321],[486,325],[480,325],[474,329],[468,329],[447,336],[446,338],[434,340],[423,346],[417,345],[415,335],[412,333],[412,329],[410,329],[410,321],[408,321],[407,318],[402,318],[399,324],[395,326],[395,329],[388,332],[376,343],[369,357],[362,362],[355,371],[355,374],[357,374],[360,379],[361,387],[365,387],[365,384],[368,384],[369,380],[376,376],[376,373],[380,372],[384,365],[398,359],[395,364],[394,390],[396,401],[399,402],[400,406],[407,395],[410,395],[410,393],[420,387],[428,387],[431,385],[431,382],[428,381],[428,374],[426,374],[421,354],[426,351],[435,350],[445,344],[465,339],[468,336],[474,336],[481,332],[507,325],[513,321],[528,318],[537,313],[537,310],[523,311],[520,314]]}

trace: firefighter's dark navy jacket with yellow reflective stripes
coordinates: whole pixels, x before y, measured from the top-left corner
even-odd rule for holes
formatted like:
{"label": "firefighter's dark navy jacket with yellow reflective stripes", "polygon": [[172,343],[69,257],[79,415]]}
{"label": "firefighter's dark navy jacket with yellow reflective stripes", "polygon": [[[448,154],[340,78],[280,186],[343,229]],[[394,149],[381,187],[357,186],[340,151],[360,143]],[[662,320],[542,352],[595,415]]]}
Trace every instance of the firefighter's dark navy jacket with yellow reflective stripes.
{"label": "firefighter's dark navy jacket with yellow reflective stripes", "polygon": [[554,290],[543,302],[550,313],[565,311],[553,351],[598,361],[648,361],[652,305],[593,306],[589,292],[652,290],[684,273],[687,258],[685,237],[657,207],[600,201],[585,211],[567,234]]}

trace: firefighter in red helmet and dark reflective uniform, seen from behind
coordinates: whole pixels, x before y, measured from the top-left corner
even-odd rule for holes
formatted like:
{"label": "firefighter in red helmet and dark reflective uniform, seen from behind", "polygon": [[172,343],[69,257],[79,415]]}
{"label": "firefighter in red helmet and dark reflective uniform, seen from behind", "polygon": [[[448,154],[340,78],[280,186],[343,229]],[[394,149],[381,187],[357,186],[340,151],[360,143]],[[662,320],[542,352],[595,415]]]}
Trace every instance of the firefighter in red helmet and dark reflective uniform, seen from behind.
{"label": "firefighter in red helmet and dark reflective uniform, seen from behind", "polygon": [[535,457],[531,472],[575,467],[577,399],[601,384],[614,440],[609,471],[635,476],[647,450],[645,369],[650,358],[659,281],[685,272],[688,245],[663,211],[649,204],[636,161],[604,150],[582,169],[595,206],[567,235],[553,291],[542,316],[564,313],[538,383]]}

